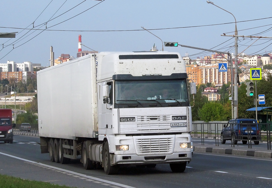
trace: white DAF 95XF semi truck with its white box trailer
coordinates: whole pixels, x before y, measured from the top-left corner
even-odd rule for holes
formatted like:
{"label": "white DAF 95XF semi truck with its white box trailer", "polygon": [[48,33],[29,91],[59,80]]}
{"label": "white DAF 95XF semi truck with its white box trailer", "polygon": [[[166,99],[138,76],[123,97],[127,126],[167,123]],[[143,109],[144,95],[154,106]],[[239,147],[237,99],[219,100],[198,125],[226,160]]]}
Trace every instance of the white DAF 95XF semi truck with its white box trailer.
{"label": "white DAF 95XF semi truck with its white box trailer", "polygon": [[184,60],[176,52],[100,52],[37,72],[41,153],[81,157],[86,170],[192,159],[192,118]]}

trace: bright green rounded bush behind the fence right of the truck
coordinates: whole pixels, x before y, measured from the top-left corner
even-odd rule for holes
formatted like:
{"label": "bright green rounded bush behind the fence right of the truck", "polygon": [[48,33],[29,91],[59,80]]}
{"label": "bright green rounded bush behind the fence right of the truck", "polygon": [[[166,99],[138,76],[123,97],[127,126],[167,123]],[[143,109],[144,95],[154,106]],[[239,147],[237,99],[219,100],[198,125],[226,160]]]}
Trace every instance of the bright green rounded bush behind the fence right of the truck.
{"label": "bright green rounded bush behind the fence right of the truck", "polygon": [[208,102],[204,104],[198,114],[200,120],[205,122],[227,120],[223,105],[218,102]]}

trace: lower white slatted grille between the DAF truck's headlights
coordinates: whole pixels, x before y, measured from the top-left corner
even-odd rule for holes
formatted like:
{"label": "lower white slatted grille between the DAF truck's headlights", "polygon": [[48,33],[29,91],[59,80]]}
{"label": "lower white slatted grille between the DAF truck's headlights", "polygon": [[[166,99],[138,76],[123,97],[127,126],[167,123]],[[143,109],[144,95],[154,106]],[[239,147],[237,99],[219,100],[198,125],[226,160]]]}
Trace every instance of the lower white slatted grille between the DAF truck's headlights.
{"label": "lower white slatted grille between the DAF truck's headlights", "polygon": [[139,154],[172,153],[174,138],[136,139]]}

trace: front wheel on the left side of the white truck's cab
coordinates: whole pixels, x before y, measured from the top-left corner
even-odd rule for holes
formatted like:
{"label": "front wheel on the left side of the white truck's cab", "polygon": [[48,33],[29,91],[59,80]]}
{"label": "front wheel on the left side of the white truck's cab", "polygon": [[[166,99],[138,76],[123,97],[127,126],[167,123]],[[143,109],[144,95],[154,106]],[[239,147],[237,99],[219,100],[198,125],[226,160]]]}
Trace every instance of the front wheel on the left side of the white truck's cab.
{"label": "front wheel on the left side of the white truck's cab", "polygon": [[103,159],[102,159],[104,171],[108,175],[116,174],[118,171],[118,168],[116,165],[111,166],[110,165],[110,150],[109,150],[109,143],[105,142],[103,147]]}

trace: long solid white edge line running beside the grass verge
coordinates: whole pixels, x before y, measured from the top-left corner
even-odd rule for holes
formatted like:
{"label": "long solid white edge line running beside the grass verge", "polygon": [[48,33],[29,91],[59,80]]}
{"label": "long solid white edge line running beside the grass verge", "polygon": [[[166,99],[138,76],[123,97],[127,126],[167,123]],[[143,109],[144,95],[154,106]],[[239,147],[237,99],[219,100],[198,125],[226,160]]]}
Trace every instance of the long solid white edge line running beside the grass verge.
{"label": "long solid white edge line running beside the grass verge", "polygon": [[23,159],[23,158],[20,158],[20,157],[16,157],[16,156],[13,156],[13,155],[9,155],[9,154],[7,154],[7,153],[2,153],[2,152],[0,152],[0,154],[6,155],[6,156],[9,156],[9,157],[13,157],[13,158],[15,158],[15,159],[20,159],[20,160],[22,160],[22,161],[26,161],[26,162],[31,162],[31,163],[39,164],[39,165],[42,165],[42,166],[45,166],[45,167],[54,168],[55,170],[61,170],[61,171],[63,171],[63,172],[67,172],[67,173],[70,173],[70,174],[73,174],[73,175],[78,175],[78,176],[85,177],[85,178],[89,178],[89,179],[92,179],[92,180],[97,180],[97,181],[101,181],[101,182],[104,182],[104,183],[109,183],[109,184],[112,184],[112,185],[116,185],[116,186],[111,186],[111,187],[115,187],[115,188],[116,188],[117,186],[120,186],[120,187],[125,187],[125,188],[136,188],[136,187],[131,187],[131,186],[124,185],[124,184],[121,184],[121,183],[116,183],[116,182],[113,182],[113,181],[103,180],[103,179],[101,179],[101,178],[96,178],[96,177],[93,177],[93,176],[87,176],[87,175],[85,175],[85,174],[73,172],[73,171],[70,171],[70,170],[65,170],[65,169],[63,169],[63,168],[58,168],[58,167],[54,167],[54,166],[42,164],[42,163],[39,163],[39,162],[30,161],[30,160],[27,160],[27,159]]}

